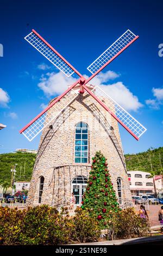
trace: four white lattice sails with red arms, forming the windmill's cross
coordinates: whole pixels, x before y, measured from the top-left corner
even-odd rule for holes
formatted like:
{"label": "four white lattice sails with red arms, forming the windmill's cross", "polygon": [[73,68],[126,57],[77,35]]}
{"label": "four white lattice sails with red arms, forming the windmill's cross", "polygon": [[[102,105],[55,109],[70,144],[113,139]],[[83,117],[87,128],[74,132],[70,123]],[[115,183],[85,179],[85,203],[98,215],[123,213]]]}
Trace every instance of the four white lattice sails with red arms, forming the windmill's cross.
{"label": "four white lattice sails with red arms, forming the windmill's cross", "polygon": [[[112,45],[110,45],[87,70],[91,72],[89,78],[85,78],[76,70],[67,60],[61,56],[48,42],[42,38],[34,29],[24,39],[49,60],[56,68],[63,72],[67,77],[74,73],[78,79],[64,93],[54,99],[39,115],[37,115],[29,124],[20,131],[29,141],[32,141],[41,131],[55,126],[60,114],[77,99],[79,95],[89,95],[93,102],[108,112],[111,118],[126,129],[137,141],[146,131],[146,128],[132,117],[123,107],[113,100],[99,86],[90,86],[89,82],[97,76],[109,63],[126,50],[139,36],[135,35],[129,29],[124,32]],[[77,90],[79,88],[79,90]],[[59,109],[56,111],[56,109]],[[44,135],[43,135],[44,136]],[[43,178],[44,179],[44,178]],[[44,180],[40,181],[44,184]],[[42,186],[45,186],[42,185]],[[42,190],[43,191],[43,188]],[[39,192],[40,193],[40,192]],[[42,195],[42,192],[41,192]],[[64,194],[65,197],[65,194]]]}

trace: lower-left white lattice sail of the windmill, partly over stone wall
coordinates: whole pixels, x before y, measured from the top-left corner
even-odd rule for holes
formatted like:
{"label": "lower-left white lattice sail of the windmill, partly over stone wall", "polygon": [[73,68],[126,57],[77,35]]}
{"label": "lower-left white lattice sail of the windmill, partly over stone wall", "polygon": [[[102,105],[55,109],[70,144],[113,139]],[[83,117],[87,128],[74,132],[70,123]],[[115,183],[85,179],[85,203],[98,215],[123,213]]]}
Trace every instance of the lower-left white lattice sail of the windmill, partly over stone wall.
{"label": "lower-left white lattice sail of the windmill, partly over stone wall", "polygon": [[32,141],[43,129],[48,125],[53,124],[54,120],[59,117],[62,111],[78,96],[78,93],[74,90],[70,90],[65,96],[63,96],[55,105],[49,108],[45,113],[35,118],[32,124],[27,125],[27,129],[22,134]]}

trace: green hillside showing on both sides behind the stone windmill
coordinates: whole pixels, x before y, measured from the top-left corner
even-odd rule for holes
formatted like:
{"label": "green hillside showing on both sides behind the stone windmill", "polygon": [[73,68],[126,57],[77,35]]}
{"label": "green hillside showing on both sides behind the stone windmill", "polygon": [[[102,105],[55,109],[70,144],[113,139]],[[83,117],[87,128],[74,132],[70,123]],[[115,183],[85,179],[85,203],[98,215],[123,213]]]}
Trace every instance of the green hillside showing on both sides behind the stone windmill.
{"label": "green hillside showing on both sides behind the stone windmill", "polygon": [[[35,162],[35,154],[32,153],[8,153],[0,154],[0,180],[11,180],[11,167],[16,166],[16,181],[30,181]],[[163,167],[163,147],[148,149],[146,152],[125,155],[127,170],[142,170],[151,172]],[[151,160],[150,160],[151,159]],[[151,168],[152,164],[152,168]]]}

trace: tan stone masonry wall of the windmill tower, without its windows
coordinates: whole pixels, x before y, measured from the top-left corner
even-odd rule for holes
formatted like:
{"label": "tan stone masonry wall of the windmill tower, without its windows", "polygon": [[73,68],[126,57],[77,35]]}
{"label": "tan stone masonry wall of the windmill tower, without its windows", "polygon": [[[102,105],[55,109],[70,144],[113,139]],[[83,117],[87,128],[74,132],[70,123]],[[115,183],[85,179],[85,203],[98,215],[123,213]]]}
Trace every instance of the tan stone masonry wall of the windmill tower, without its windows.
{"label": "tan stone masonry wall of the windmill tower, without its windows", "polygon": [[[56,109],[54,105],[55,111]],[[75,126],[84,121],[89,126],[89,163],[74,163]],[[40,139],[27,205],[38,205],[40,176],[45,178],[41,204],[69,202],[71,181],[77,175],[89,176],[92,157],[101,150],[108,159],[111,180],[117,194],[116,179],[122,179],[122,198],[131,199],[126,163],[117,121],[90,95],[79,94]],[[58,168],[60,166],[60,168]],[[118,195],[118,194],[117,194]]]}

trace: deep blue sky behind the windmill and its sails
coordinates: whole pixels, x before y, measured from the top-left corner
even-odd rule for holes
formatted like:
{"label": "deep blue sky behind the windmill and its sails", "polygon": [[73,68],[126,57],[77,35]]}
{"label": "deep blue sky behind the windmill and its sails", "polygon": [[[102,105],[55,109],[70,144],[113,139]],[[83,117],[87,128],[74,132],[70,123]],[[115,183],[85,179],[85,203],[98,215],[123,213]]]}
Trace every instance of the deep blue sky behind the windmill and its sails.
{"label": "deep blue sky behind the windmill and its sails", "polygon": [[[39,136],[28,142],[18,131],[58,93],[52,84],[58,70],[23,39],[32,28],[88,76],[87,66],[128,28],[139,35],[103,71],[111,70],[116,77],[108,78],[105,84],[123,91],[123,101],[133,106],[127,106],[129,112],[147,127],[139,142],[120,128],[124,152],[161,147],[163,57],[159,57],[158,47],[163,44],[162,8],[161,1],[149,0],[1,1],[0,44],[4,56],[0,57],[0,123],[7,127],[0,134],[0,153],[16,148],[37,149]],[[42,77],[46,78],[45,84],[41,83]],[[64,82],[69,81],[62,78],[63,88]]]}

